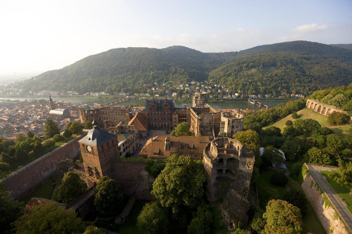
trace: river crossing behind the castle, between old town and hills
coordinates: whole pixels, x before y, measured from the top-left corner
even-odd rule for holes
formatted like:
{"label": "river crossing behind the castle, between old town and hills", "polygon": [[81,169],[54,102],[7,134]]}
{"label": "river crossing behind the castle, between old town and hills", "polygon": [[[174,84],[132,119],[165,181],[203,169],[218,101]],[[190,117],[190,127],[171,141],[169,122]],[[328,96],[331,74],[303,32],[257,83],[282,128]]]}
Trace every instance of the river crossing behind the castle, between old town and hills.
{"label": "river crossing behind the castle, between old town and hills", "polygon": [[[30,100],[30,99],[48,99],[47,97],[44,96],[26,96],[26,97],[0,97],[0,100]],[[110,101],[113,101],[111,98],[98,98],[98,97],[52,97],[52,100],[58,101],[67,101],[67,102],[72,102],[72,103],[85,103],[90,106],[94,106],[94,102],[98,102],[99,104],[104,104]],[[268,100],[263,100],[260,101],[263,102],[265,105],[269,105],[271,107],[277,106],[280,103],[286,103],[288,100],[273,100],[273,101],[268,101]],[[191,102],[183,102],[183,101],[175,101],[175,107],[182,107],[182,104],[186,103],[187,105],[190,105]],[[138,104],[141,106],[145,106],[145,100],[143,99],[132,99],[128,100],[125,102],[121,102],[122,105],[128,106],[130,104]],[[259,110],[259,106],[253,105],[252,103],[246,102],[246,101],[234,101],[234,102],[210,102],[210,106],[214,107],[215,109],[252,109],[252,110]]]}

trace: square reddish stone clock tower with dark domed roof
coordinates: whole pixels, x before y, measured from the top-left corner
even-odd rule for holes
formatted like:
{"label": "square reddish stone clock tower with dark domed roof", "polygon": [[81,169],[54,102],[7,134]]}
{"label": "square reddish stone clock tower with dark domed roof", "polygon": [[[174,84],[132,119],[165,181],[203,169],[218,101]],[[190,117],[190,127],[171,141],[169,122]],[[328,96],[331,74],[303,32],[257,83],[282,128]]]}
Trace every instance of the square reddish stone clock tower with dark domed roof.
{"label": "square reddish stone clock tower with dark domed roof", "polygon": [[117,135],[99,128],[96,120],[92,124],[93,129],[78,141],[88,186],[93,186],[101,176],[112,173],[112,160],[119,156]]}

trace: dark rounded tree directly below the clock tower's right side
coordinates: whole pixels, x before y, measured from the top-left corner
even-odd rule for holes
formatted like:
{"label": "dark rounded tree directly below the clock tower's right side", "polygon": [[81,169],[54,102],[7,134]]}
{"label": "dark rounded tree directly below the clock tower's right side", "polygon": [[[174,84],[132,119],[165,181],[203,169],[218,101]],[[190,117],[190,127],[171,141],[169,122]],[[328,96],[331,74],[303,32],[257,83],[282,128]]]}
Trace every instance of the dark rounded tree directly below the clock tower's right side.
{"label": "dark rounded tree directly below the clock tower's right side", "polygon": [[95,186],[94,206],[103,216],[114,216],[122,210],[124,195],[116,180],[108,176],[99,178]]}

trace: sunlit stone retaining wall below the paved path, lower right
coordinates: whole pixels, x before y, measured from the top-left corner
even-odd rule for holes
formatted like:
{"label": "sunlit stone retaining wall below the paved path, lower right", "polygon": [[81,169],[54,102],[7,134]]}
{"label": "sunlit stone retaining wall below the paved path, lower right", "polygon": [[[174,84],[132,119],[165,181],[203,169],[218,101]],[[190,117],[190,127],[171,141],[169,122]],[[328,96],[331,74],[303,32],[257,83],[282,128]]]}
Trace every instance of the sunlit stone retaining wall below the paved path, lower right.
{"label": "sunlit stone retaining wall below the paved path, lower right", "polygon": [[328,203],[325,204],[323,196],[319,191],[320,189],[313,177],[307,174],[301,186],[312,204],[316,215],[318,215],[321,224],[326,230],[326,233],[348,234],[344,223],[338,218],[338,214],[335,210],[328,205]]}

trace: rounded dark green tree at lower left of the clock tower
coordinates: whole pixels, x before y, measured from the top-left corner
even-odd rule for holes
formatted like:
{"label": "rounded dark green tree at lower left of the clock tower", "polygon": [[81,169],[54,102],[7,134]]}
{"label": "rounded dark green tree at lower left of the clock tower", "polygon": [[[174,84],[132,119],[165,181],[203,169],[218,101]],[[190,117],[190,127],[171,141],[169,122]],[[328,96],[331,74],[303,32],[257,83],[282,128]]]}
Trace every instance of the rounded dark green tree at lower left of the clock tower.
{"label": "rounded dark green tree at lower left of the clock tower", "polygon": [[75,200],[86,190],[87,184],[80,176],[74,172],[68,172],[64,175],[61,185],[55,189],[54,200],[64,204],[68,204]]}

